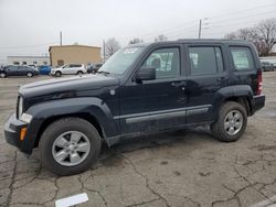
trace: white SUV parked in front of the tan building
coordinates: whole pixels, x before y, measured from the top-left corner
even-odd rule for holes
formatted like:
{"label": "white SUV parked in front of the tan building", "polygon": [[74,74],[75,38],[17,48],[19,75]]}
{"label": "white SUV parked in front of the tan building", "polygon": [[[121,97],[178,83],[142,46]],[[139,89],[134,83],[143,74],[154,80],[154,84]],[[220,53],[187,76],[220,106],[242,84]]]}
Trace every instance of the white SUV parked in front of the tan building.
{"label": "white SUV parked in front of the tan building", "polygon": [[51,69],[51,75],[61,77],[62,75],[82,75],[87,73],[84,64],[66,64]]}

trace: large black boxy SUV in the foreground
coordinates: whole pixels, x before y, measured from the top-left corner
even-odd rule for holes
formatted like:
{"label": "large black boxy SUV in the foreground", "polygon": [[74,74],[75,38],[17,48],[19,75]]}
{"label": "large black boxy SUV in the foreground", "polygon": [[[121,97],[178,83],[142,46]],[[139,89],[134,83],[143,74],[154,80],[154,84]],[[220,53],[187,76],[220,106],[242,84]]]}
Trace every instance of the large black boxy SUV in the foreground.
{"label": "large black boxy SUV in the foreground", "polygon": [[123,138],[210,126],[224,142],[265,105],[253,44],[180,40],[130,45],[95,75],[28,84],[4,126],[7,142],[61,175],[87,170]]}

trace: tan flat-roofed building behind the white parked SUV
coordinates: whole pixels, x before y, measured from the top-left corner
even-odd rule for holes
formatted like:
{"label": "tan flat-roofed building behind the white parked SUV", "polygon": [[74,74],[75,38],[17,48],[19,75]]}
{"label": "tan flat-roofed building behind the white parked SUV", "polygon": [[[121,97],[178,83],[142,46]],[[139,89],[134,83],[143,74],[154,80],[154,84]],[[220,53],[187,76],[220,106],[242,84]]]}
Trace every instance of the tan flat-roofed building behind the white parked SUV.
{"label": "tan flat-roofed building behind the white parked SUV", "polygon": [[51,65],[62,66],[64,64],[96,64],[102,62],[100,47],[86,45],[62,45],[50,46]]}

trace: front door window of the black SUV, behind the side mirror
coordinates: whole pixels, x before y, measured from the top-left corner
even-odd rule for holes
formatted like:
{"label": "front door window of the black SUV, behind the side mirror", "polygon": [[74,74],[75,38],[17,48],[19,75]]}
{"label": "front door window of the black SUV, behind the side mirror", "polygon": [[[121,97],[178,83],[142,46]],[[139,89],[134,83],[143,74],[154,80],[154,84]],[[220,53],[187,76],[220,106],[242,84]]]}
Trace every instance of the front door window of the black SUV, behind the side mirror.
{"label": "front door window of the black SUV, behind the side mirror", "polygon": [[156,78],[173,78],[180,74],[179,48],[160,48],[153,51],[142,65],[156,68]]}

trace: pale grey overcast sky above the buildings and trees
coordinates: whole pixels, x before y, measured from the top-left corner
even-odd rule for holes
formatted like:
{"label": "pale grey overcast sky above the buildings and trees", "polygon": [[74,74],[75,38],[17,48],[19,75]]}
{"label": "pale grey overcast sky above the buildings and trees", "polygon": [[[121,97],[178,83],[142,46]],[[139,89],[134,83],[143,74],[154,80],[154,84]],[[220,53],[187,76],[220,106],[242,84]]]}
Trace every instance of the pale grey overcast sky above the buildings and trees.
{"label": "pale grey overcast sky above the buildings and trees", "polygon": [[198,37],[204,18],[202,37],[223,37],[276,18],[276,0],[0,0],[0,62],[7,55],[47,53],[59,44],[60,31],[63,44],[95,46],[113,36],[123,46],[159,34]]}

